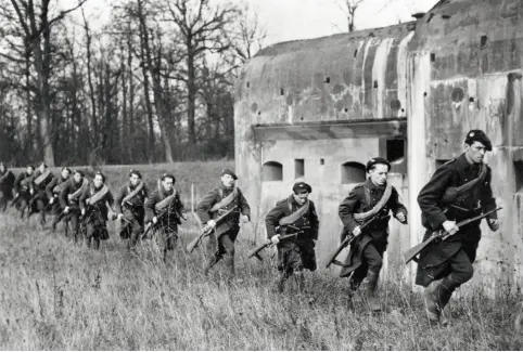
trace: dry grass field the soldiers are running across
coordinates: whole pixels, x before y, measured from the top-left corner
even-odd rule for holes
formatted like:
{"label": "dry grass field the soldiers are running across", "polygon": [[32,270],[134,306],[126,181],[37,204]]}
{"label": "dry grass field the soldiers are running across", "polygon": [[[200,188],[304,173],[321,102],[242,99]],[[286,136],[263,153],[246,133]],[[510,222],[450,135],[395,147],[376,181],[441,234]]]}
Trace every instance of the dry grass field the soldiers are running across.
{"label": "dry grass field the soldiers are running across", "polygon": [[[178,164],[183,194],[190,184],[212,188],[231,161]],[[105,167],[110,184],[127,180],[129,167]],[[145,179],[168,170],[140,167]],[[116,183],[115,183],[116,182]],[[41,229],[36,217],[21,222],[0,214],[0,349],[2,350],[521,350],[514,329],[516,297],[487,300],[482,294],[451,301],[450,325],[430,327],[421,296],[394,283],[380,290],[385,311],[370,314],[361,298],[347,304],[346,282],[319,270],[307,292],[289,285],[273,291],[275,258],[245,258],[237,249],[238,277],[221,279],[221,264],[202,275],[203,256],[180,246],[167,263],[146,242],[137,256],[115,234],[94,251]],[[181,242],[196,233],[182,225]]]}

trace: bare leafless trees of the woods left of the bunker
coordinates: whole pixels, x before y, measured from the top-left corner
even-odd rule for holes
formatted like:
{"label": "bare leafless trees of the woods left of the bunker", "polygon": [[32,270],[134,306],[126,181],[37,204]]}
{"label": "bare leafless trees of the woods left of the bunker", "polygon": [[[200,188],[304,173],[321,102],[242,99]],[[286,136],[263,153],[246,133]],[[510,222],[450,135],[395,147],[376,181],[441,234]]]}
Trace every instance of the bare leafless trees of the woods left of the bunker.
{"label": "bare leafless trees of the woods left of the bunker", "polygon": [[[12,166],[233,157],[233,83],[265,38],[214,0],[0,1],[0,160]],[[68,8],[64,8],[68,6]]]}

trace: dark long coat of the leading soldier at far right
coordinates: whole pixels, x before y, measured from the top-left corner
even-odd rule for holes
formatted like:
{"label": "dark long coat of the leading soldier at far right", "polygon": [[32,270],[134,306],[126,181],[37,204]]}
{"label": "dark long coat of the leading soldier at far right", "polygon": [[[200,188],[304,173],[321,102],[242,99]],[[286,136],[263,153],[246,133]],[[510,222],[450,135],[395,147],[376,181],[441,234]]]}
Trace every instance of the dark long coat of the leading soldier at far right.
{"label": "dark long coat of the leading soldier at far right", "polygon": [[[461,221],[472,218],[483,211],[496,208],[496,199],[490,188],[492,171],[487,167],[487,174],[483,182],[477,183],[465,194],[457,197],[454,201],[445,204],[442,197],[448,187],[461,186],[477,178],[480,165],[470,165],[464,154],[439,167],[431,181],[418,195],[418,204],[422,211],[422,224],[429,231],[424,239],[431,236],[432,231],[443,230],[446,220]],[[497,219],[492,213],[489,219]],[[467,240],[479,242],[481,236],[480,221],[460,227],[460,231],[446,240],[432,244],[420,253],[420,266],[434,266],[445,262],[458,252]],[[475,238],[472,238],[475,237]],[[473,246],[476,246],[474,244]]]}

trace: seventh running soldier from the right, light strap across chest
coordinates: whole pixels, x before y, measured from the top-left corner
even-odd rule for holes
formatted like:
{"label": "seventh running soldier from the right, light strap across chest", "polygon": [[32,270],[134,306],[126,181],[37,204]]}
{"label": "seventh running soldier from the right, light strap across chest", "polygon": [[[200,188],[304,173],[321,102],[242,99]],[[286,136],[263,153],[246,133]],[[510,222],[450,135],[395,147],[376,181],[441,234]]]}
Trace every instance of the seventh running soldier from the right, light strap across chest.
{"label": "seventh running soldier from the right, light strap across chest", "polygon": [[80,196],[80,210],[86,222],[86,239],[90,247],[100,248],[100,240],[109,239],[107,212],[113,211],[113,194],[105,185],[105,175],[97,171],[92,185],[85,188]]}

